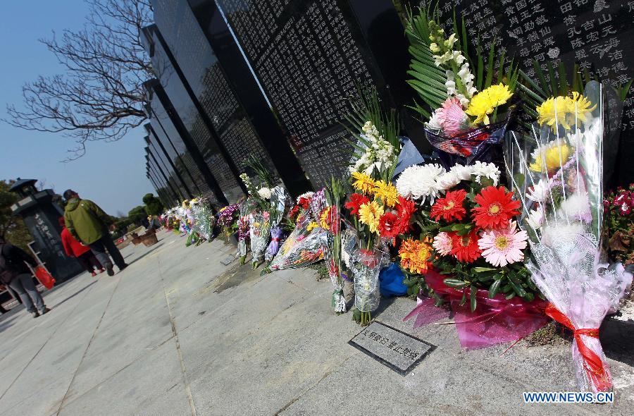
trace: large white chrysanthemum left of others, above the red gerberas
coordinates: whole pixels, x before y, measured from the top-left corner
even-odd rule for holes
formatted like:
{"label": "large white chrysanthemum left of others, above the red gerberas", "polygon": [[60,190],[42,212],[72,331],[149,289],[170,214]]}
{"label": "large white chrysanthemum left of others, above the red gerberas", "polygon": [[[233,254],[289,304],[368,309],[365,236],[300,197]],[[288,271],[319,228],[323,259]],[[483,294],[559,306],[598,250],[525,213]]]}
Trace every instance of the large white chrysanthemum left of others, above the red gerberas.
{"label": "large white chrysanthemum left of others, above the red gerberas", "polygon": [[411,196],[414,200],[425,202],[427,197],[430,203],[440,195],[442,190],[438,178],[445,169],[438,164],[426,164],[422,166],[409,166],[396,181],[396,188],[402,197]]}

